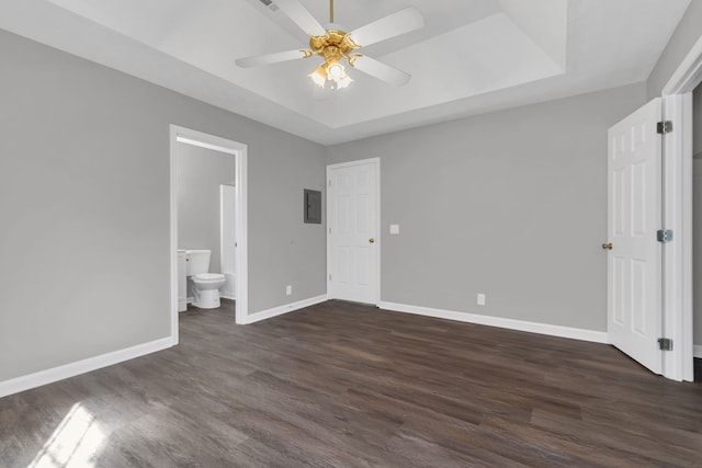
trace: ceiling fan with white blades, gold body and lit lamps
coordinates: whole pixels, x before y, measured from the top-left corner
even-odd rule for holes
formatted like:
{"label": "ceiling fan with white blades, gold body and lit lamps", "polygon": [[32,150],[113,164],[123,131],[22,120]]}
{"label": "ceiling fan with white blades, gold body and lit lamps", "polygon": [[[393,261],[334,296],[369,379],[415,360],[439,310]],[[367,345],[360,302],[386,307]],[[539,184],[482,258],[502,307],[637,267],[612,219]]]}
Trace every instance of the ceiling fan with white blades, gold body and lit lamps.
{"label": "ceiling fan with white blades, gold body and lit lamps", "polygon": [[406,8],[347,33],[333,22],[333,0],[329,0],[330,24],[326,27],[319,24],[299,0],[273,2],[309,36],[309,48],[238,58],[236,64],[239,67],[258,67],[318,55],[325,61],[308,77],[319,88],[325,88],[327,81],[330,82],[331,89],[342,89],[351,84],[353,80],[347,73],[342,60],[371,77],[396,87],[406,84],[411,78],[408,73],[356,50],[423,27],[424,19],[417,9]]}

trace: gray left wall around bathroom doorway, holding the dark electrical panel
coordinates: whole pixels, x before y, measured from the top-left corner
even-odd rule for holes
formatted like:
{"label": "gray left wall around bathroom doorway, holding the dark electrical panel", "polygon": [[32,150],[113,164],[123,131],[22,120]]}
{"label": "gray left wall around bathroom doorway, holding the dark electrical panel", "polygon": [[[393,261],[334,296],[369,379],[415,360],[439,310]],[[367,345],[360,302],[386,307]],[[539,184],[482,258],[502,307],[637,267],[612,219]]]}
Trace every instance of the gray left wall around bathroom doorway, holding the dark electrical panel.
{"label": "gray left wall around bathroom doorway, holding the dark electrical panel", "polygon": [[170,334],[169,124],[248,145],[250,311],[325,294],[322,147],[3,31],[0,64],[0,380]]}

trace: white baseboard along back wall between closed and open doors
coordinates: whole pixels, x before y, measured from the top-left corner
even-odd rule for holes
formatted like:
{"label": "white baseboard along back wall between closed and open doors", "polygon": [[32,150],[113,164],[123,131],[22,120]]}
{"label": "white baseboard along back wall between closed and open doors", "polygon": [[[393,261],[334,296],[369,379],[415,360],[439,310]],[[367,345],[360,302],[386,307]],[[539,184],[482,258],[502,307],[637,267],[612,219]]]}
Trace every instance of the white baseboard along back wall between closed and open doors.
{"label": "white baseboard along back wall between closed and open doors", "polygon": [[482,326],[499,327],[509,330],[528,331],[531,333],[547,334],[551,336],[569,338],[573,340],[591,341],[595,343],[609,343],[607,332],[584,330],[569,327],[552,326],[546,323],[528,322],[522,320],[505,319],[501,317],[480,316],[477,313],[456,312],[452,310],[432,309],[429,307],[408,306],[381,301],[381,309],[396,312],[416,313],[419,316],[435,317],[439,319],[456,320],[460,322],[477,323]]}

